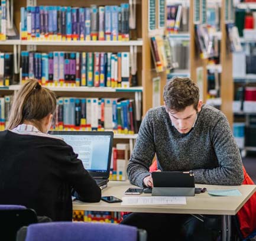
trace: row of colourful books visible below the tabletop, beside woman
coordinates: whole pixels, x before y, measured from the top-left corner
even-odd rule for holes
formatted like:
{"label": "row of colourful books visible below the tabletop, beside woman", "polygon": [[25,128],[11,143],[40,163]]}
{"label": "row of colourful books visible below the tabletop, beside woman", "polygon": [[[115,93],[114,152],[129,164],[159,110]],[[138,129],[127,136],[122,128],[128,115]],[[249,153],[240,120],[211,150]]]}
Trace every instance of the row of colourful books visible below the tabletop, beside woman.
{"label": "row of colourful books visible below the tabletop, beside woman", "polygon": [[120,223],[121,213],[118,211],[73,210],[73,222]]}

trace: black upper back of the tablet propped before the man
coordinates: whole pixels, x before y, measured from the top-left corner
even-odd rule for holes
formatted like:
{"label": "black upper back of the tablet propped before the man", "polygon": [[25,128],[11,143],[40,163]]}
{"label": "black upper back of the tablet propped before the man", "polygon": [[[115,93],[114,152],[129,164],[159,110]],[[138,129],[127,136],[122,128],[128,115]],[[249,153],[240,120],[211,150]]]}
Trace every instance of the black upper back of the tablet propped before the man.
{"label": "black upper back of the tablet propped before the man", "polygon": [[155,171],[151,173],[154,187],[195,187],[194,175],[182,171]]}

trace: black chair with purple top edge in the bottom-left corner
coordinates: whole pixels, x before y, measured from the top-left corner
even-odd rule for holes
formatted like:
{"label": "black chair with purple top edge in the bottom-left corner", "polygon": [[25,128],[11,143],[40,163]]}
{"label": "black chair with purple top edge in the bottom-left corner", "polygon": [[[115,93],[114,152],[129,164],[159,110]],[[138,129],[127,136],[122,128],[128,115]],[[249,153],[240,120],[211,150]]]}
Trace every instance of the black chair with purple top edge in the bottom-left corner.
{"label": "black chair with purple top edge in the bottom-left corner", "polygon": [[37,214],[33,209],[20,205],[0,205],[0,240],[15,240],[17,231],[31,223],[37,223]]}

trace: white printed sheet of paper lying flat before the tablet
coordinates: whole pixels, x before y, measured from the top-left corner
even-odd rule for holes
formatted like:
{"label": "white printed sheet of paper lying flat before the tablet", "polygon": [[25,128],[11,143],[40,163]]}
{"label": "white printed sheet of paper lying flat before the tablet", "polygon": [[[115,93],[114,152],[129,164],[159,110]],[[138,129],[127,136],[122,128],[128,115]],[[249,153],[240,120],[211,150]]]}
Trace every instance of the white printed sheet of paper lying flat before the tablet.
{"label": "white printed sheet of paper lying flat before the tablet", "polygon": [[122,197],[122,205],[186,204],[186,197]]}

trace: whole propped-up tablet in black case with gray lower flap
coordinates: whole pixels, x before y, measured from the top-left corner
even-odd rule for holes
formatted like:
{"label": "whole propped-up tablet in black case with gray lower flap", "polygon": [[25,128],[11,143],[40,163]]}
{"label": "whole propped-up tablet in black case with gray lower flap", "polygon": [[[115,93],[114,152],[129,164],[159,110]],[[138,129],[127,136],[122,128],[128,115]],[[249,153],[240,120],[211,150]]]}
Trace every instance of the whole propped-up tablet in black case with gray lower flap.
{"label": "whole propped-up tablet in black case with gray lower flap", "polygon": [[152,172],[152,196],[195,196],[193,172]]}

